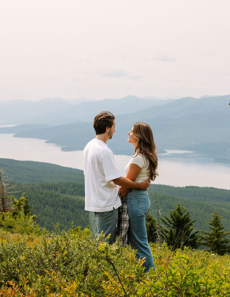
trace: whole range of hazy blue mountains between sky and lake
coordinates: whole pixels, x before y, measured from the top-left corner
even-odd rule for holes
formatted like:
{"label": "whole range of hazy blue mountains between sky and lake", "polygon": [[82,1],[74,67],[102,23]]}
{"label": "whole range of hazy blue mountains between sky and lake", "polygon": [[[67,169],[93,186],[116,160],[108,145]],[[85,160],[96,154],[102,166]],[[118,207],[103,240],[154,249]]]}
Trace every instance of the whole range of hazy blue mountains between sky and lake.
{"label": "whole range of hazy blue mountains between sky and lake", "polygon": [[0,121],[19,125],[0,128],[0,133],[46,139],[64,150],[79,150],[95,137],[94,116],[109,110],[116,117],[116,132],[108,143],[115,153],[132,153],[127,134],[135,122],[144,121],[154,132],[158,151],[186,149],[230,155],[230,95],[177,100],[135,96],[100,101],[53,100],[0,102]]}

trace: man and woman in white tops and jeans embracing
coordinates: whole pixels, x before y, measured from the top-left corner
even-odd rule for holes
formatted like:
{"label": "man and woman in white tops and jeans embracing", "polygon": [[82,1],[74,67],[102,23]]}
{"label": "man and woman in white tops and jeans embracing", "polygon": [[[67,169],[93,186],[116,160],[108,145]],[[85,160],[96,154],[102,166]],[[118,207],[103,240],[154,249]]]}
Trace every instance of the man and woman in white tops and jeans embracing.
{"label": "man and woman in white tops and jeans embracing", "polygon": [[106,144],[115,132],[115,116],[102,111],[96,115],[93,127],[96,138],[86,145],[83,152],[85,210],[93,211],[96,216],[97,235],[101,231],[105,236],[110,234],[108,241],[112,244],[119,207],[127,208],[128,241],[132,249],[137,250],[136,257],[145,258],[143,265],[148,271],[154,268],[154,261],[145,228],[145,216],[150,209],[147,189],[150,181],[158,175],[152,130],[148,124],[136,123],[128,133],[128,142],[133,144],[135,151],[125,168],[125,178],[118,171],[113,152]]}

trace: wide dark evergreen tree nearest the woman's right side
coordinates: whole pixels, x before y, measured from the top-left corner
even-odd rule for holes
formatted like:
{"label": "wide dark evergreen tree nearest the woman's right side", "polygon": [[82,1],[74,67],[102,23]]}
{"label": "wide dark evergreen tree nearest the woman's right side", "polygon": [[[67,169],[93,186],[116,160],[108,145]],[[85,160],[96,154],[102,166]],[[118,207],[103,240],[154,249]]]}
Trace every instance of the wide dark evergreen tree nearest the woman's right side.
{"label": "wide dark evergreen tree nearest the woman's right side", "polygon": [[168,245],[172,246],[173,250],[176,248],[183,248],[184,246],[197,248],[198,247],[198,231],[193,231],[193,223],[195,220],[190,218],[190,212],[184,212],[187,209],[181,207],[178,203],[174,210],[170,210],[170,218],[164,215],[165,219],[162,222],[166,228],[162,228],[162,233],[165,236]]}

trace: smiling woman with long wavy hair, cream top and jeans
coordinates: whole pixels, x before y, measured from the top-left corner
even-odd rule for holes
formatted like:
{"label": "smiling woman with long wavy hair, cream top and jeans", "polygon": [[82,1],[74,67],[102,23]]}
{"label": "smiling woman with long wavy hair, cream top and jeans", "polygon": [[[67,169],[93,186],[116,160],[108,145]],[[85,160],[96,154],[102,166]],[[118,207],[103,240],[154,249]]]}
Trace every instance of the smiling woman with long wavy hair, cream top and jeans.
{"label": "smiling woman with long wavy hair, cream top and jeans", "polygon": [[[157,173],[157,150],[153,133],[148,124],[136,123],[128,133],[128,142],[134,146],[134,155],[125,168],[126,178],[143,182],[147,178],[154,180]],[[120,187],[121,197],[125,197],[129,215],[128,239],[132,249],[137,249],[137,258],[145,257],[145,271],[154,268],[153,256],[148,244],[145,217],[150,209],[150,200],[146,190]]]}

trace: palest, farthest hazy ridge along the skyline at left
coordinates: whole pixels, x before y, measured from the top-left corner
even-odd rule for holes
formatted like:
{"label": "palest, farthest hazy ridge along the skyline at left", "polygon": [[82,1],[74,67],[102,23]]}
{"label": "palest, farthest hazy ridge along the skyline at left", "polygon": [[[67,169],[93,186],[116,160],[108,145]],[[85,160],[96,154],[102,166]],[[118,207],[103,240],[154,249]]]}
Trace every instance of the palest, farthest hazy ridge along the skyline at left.
{"label": "palest, farthest hazy ridge along the skyline at left", "polygon": [[[126,114],[144,107],[164,105],[169,100],[143,99],[127,96],[121,99],[104,100],[61,100],[51,101],[50,98],[40,101],[0,102],[1,121],[7,124],[46,124],[61,125],[76,121],[92,121],[97,113],[109,110],[112,113]],[[7,105],[6,105],[7,104]]]}

